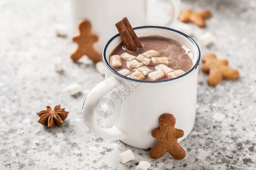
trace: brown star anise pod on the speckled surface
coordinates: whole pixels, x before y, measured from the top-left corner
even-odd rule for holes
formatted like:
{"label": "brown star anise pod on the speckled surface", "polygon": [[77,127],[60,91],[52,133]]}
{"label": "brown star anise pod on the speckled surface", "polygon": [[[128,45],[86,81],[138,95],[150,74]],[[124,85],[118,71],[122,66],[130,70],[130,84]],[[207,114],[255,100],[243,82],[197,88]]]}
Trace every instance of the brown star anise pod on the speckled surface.
{"label": "brown star anise pod on the speckled surface", "polygon": [[60,105],[56,105],[53,110],[51,107],[47,106],[46,111],[38,113],[38,116],[40,116],[38,122],[48,126],[49,128],[53,128],[55,124],[57,126],[61,126],[63,124],[63,120],[68,116],[68,112],[65,112],[64,110],[65,108],[61,109]]}

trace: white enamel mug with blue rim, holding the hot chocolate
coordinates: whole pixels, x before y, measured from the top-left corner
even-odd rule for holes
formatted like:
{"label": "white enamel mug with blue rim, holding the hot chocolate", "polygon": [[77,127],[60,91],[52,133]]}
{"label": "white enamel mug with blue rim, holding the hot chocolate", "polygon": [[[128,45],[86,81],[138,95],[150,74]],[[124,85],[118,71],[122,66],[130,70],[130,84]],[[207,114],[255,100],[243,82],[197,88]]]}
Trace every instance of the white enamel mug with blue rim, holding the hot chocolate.
{"label": "white enamel mug with blue rim, holding the hot chocolate", "polygon": [[[155,145],[156,139],[151,136],[151,131],[159,128],[159,117],[171,113],[176,118],[175,128],[184,130],[183,137],[178,139],[180,142],[195,123],[201,58],[199,46],[191,37],[167,27],[144,26],[134,28],[134,31],[138,37],[159,35],[181,42],[193,52],[193,67],[169,80],[150,82],[127,78],[109,64],[109,54],[122,41],[119,34],[115,35],[104,47],[106,79],[97,84],[85,100],[82,111],[85,124],[102,138],[121,140],[127,145],[147,149]],[[108,114],[112,128],[100,128],[97,124],[97,103],[101,99],[105,99],[101,107],[106,111],[102,114]]]}

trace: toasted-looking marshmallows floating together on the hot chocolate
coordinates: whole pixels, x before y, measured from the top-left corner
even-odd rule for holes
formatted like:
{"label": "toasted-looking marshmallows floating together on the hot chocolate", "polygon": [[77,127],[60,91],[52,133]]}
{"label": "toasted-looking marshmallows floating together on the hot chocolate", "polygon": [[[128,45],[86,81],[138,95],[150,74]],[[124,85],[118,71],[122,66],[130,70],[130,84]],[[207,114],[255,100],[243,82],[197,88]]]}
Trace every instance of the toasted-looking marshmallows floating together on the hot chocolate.
{"label": "toasted-looking marshmallows floating together on the hot chocolate", "polygon": [[[121,56],[111,56],[110,65],[113,68],[121,67],[121,59],[125,59],[127,61],[127,67],[135,71],[131,74],[130,70],[123,69],[118,71],[118,73],[137,80],[143,80],[146,76],[148,76],[151,81],[159,80],[164,76],[168,76],[169,79],[172,79],[185,73],[182,70],[172,70],[168,67],[170,61],[166,57],[157,56],[159,56],[159,53],[155,50],[148,50],[143,54],[139,54],[137,57],[123,53]],[[156,71],[148,69],[148,65],[155,65]]]}

